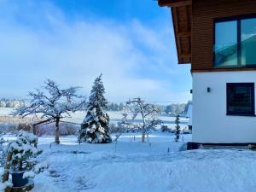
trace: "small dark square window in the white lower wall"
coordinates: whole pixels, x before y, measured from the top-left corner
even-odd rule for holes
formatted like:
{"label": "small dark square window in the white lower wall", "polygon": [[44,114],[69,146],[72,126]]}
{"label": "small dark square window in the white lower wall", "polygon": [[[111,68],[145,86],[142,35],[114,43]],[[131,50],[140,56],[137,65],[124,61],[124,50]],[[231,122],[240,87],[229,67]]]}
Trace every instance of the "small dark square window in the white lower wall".
{"label": "small dark square window in the white lower wall", "polygon": [[254,83],[227,84],[227,114],[254,115]]}

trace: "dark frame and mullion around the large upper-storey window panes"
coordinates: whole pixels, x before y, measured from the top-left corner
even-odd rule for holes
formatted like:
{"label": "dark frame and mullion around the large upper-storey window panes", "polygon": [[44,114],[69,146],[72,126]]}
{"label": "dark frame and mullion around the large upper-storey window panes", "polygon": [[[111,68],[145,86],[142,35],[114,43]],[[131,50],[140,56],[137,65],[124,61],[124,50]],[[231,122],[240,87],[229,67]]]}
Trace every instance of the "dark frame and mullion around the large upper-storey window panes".
{"label": "dark frame and mullion around the large upper-storey window panes", "polygon": [[[250,68],[250,67],[256,67],[255,64],[250,64],[250,65],[241,65],[241,20],[247,20],[247,19],[256,19],[256,14],[251,14],[251,15],[237,15],[237,16],[232,16],[232,17],[225,17],[225,18],[218,18],[213,20],[213,38],[212,38],[212,66],[214,68]],[[237,21],[237,65],[232,65],[232,66],[216,66],[215,65],[215,40],[216,40],[216,23],[220,22],[228,22],[228,21]]]}

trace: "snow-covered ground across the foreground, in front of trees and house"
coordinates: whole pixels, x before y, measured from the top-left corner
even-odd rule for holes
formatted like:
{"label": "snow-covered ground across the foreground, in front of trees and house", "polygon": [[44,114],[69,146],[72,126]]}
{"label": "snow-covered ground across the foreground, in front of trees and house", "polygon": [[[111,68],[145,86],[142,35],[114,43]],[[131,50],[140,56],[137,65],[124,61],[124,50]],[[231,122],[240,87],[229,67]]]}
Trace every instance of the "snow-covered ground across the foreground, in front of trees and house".
{"label": "snow-covered ground across the foreground, in front of trees and house", "polygon": [[[184,135],[188,142],[191,135]],[[169,134],[150,143],[125,135],[110,144],[81,144],[76,137],[40,137],[40,159],[49,164],[32,192],[251,192],[255,191],[256,153],[248,149],[179,151]],[[169,152],[168,152],[169,148]]]}

